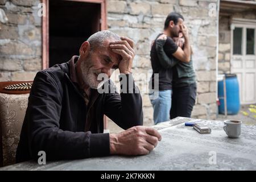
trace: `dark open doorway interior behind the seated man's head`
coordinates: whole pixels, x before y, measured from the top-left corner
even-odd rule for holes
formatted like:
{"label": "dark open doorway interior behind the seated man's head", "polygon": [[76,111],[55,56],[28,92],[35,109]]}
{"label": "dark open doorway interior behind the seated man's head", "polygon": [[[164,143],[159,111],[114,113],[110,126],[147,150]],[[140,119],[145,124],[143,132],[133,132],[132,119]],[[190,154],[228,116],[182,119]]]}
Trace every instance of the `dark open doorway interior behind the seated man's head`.
{"label": "dark open doorway interior behind the seated man's head", "polygon": [[101,4],[49,1],[49,67],[79,55],[90,35],[101,30]]}

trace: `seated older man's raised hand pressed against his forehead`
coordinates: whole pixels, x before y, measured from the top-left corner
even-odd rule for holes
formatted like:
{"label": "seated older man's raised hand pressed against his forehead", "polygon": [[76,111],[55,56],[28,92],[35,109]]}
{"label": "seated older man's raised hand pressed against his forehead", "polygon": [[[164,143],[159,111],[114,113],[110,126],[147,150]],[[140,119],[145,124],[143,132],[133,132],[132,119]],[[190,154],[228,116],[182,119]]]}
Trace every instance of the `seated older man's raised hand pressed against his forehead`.
{"label": "seated older man's raised hand pressed against his forehead", "polygon": [[135,55],[133,40],[121,36],[121,40],[110,42],[109,47],[114,53],[122,56],[118,65],[120,73],[131,73],[131,65]]}

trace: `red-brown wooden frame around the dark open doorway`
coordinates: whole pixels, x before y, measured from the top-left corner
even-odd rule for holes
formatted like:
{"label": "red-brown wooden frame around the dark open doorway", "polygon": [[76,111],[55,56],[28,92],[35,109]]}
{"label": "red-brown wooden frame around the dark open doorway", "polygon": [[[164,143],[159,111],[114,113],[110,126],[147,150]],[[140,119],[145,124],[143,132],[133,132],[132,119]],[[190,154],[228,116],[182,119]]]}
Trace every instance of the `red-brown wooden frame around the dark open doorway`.
{"label": "red-brown wooden frame around the dark open doorway", "polygon": [[[67,1],[67,0],[63,0]],[[106,0],[68,0],[76,2],[89,2],[101,4],[101,30],[107,29],[106,22]],[[46,16],[42,16],[42,68],[49,67],[49,0],[42,0],[46,5]]]}

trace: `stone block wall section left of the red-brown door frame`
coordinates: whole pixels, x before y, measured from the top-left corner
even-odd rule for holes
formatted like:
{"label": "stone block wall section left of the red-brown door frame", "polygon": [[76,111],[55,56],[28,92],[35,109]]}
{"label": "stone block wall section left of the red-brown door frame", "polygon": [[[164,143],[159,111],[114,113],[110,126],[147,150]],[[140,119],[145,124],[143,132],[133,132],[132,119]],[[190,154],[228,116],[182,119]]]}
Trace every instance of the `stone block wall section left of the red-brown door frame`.
{"label": "stone block wall section left of the red-brown door frame", "polygon": [[32,80],[42,68],[41,18],[35,0],[0,0],[0,81]]}

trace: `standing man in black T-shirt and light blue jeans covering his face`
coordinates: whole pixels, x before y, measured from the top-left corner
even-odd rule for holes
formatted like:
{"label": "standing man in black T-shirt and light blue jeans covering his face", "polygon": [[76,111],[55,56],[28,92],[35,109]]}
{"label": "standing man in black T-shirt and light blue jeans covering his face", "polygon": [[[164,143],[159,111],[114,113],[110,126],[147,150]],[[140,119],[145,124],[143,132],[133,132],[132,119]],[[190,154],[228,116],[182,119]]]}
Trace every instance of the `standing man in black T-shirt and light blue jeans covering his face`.
{"label": "standing man in black T-shirt and light blue jeans covering his face", "polygon": [[[184,18],[179,13],[170,13],[164,23],[164,31],[159,34],[154,43],[152,44],[150,57],[153,74],[151,77],[152,90],[150,90],[150,98],[154,92],[158,92],[158,98],[152,100],[151,104],[154,109],[154,123],[168,121],[170,119],[171,110],[171,94],[172,94],[172,80],[173,80],[173,68],[178,63],[177,60],[189,63],[191,57],[191,48],[188,41],[188,30],[183,24]],[[179,34],[185,35],[184,49],[181,49],[175,43],[173,38],[177,38]],[[159,51],[161,44],[158,40],[164,40],[163,52]],[[163,59],[166,54],[170,60]],[[159,90],[155,90],[155,77],[154,74],[159,74]],[[154,94],[155,95],[155,94]]]}

